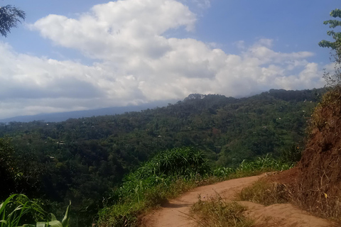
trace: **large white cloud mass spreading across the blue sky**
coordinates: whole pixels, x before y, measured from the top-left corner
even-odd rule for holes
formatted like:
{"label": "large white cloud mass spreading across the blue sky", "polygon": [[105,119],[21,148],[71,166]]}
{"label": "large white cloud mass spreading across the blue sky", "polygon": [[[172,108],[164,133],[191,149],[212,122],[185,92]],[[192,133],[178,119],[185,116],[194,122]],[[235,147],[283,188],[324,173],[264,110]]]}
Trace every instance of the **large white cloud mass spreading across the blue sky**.
{"label": "large white cloud mass spreading across the blue sky", "polygon": [[[197,1],[210,4],[210,1]],[[246,96],[271,88],[322,87],[312,52],[276,52],[261,39],[240,55],[170,29],[195,31],[197,16],[175,0],[99,4],[78,18],[48,15],[31,24],[43,38],[93,59],[90,66],[15,52],[0,43],[0,118],[124,106],[190,93]],[[6,57],[5,57],[6,56]]]}

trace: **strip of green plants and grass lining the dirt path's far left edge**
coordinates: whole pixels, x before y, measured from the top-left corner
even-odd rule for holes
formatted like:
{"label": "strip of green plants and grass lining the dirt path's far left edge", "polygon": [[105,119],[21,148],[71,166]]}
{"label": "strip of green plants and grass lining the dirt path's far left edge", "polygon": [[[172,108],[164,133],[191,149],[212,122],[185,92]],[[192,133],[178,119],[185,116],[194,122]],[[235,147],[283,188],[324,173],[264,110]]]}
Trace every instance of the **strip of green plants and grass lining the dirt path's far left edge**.
{"label": "strip of green plants and grass lining the dirt path's far left edge", "polygon": [[[193,187],[287,170],[292,166],[269,156],[259,157],[254,162],[244,161],[236,168],[212,170],[208,163],[194,148],[175,148],[159,153],[128,175],[122,186],[112,193],[107,206],[99,211],[98,226],[137,226],[140,215]],[[233,208],[231,212],[240,209],[235,204],[225,205]]]}

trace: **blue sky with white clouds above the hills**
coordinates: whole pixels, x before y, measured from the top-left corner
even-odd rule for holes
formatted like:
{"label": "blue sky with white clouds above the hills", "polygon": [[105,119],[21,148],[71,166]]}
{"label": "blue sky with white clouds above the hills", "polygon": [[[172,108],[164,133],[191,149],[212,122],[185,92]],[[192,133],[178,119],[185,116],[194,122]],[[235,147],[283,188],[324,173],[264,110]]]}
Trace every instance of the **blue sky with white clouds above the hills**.
{"label": "blue sky with white clouds above the hills", "polygon": [[[340,0],[4,0],[26,20],[0,38],[0,118],[189,94],[313,89],[332,70]],[[330,40],[330,39],[329,39]]]}

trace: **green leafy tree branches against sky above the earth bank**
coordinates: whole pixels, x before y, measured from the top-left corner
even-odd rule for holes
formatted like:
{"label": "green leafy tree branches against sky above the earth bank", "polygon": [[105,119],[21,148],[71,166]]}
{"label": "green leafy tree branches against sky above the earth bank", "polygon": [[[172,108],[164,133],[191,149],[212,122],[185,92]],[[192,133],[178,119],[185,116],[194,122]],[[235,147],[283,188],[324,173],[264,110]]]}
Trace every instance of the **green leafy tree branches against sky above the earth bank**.
{"label": "green leafy tree branches against sky above the earth bank", "polygon": [[[341,18],[341,10],[334,9],[330,12],[330,16],[334,18]],[[336,28],[341,26],[340,20],[329,20],[323,22],[325,25],[329,24],[329,28]],[[327,35],[330,35],[334,41],[322,40],[318,45],[322,48],[331,48],[332,57],[335,58],[335,72],[325,72],[324,78],[327,84],[331,87],[341,88],[341,32],[328,31]]]}

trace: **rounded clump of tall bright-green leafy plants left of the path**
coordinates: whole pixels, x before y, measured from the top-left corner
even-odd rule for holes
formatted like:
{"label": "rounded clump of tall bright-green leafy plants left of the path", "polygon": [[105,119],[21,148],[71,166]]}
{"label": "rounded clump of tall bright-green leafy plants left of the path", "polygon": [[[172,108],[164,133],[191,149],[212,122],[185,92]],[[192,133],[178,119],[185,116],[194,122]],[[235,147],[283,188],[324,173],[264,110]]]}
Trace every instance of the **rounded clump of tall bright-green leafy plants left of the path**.
{"label": "rounded clump of tall bright-green leafy plants left of the path", "polygon": [[193,148],[174,148],[158,153],[135,172],[124,179],[118,196],[134,196],[139,199],[146,189],[158,184],[169,186],[174,179],[197,179],[210,174],[207,159]]}

